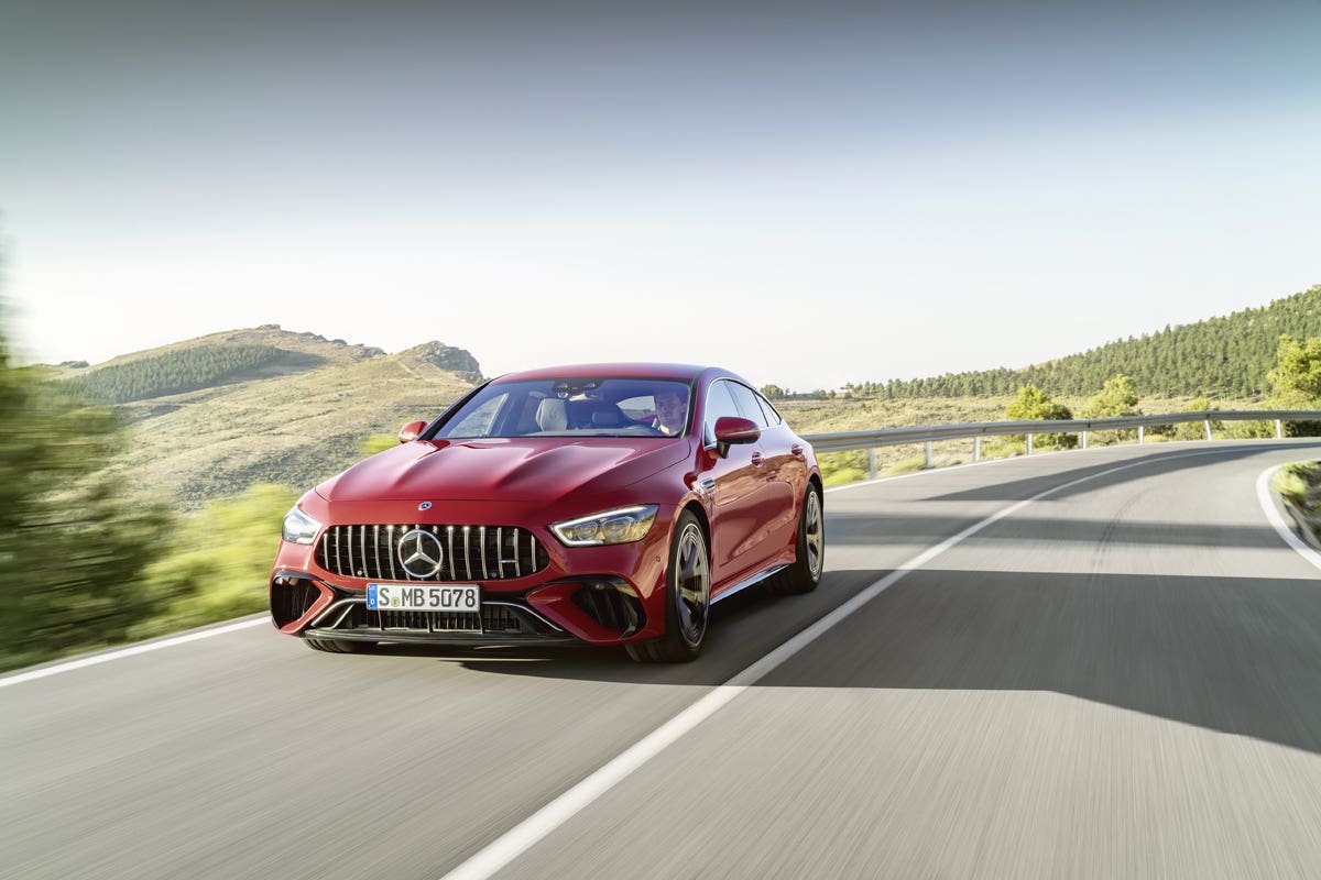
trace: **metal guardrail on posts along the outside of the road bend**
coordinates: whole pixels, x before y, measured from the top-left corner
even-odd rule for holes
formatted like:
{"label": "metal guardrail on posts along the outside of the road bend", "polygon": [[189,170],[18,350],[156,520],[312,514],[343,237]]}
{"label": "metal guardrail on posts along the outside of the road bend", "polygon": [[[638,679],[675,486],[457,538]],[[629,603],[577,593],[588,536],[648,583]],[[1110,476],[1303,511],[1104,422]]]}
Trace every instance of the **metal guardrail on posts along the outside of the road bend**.
{"label": "metal guardrail on posts along the outside of the road bend", "polygon": [[974,438],[972,460],[982,460],[982,438],[1003,434],[1024,434],[1028,454],[1032,454],[1033,434],[1078,434],[1087,449],[1091,431],[1137,429],[1137,442],[1155,425],[1203,422],[1206,439],[1211,439],[1211,422],[1275,422],[1275,435],[1284,435],[1284,422],[1321,422],[1321,410],[1314,409],[1262,409],[1262,410],[1207,410],[1193,413],[1164,413],[1161,416],[1119,416],[1115,418],[1071,418],[1058,421],[1022,422],[967,422],[963,425],[927,425],[914,427],[881,427],[871,431],[835,431],[832,434],[803,434],[803,439],[818,453],[836,453],[853,449],[867,450],[867,474],[876,476],[876,447],[898,443],[925,443],[926,466],[931,467],[931,443],[946,439]]}

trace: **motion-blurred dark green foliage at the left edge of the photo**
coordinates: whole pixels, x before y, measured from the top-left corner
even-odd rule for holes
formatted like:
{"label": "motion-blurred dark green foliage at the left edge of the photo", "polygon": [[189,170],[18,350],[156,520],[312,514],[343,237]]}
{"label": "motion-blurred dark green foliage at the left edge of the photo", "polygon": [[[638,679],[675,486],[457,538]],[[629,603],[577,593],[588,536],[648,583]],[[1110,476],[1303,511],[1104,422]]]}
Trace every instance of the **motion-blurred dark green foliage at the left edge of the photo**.
{"label": "motion-blurred dark green foliage at the left edge of the photo", "polygon": [[0,331],[0,669],[123,641],[164,600],[143,573],[169,516],[125,496],[124,442],[114,413],[15,367]]}

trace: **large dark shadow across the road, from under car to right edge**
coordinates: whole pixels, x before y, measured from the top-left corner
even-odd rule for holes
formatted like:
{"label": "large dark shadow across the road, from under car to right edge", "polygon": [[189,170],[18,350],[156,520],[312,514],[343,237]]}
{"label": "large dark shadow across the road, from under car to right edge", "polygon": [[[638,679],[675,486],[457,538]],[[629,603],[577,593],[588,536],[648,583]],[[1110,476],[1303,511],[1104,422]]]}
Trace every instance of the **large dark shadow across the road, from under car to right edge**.
{"label": "large dark shadow across the road, from under car to right edge", "polygon": [[[618,652],[481,657],[501,676],[721,685],[885,573],[717,606],[694,664]],[[1053,691],[1321,753],[1321,584],[1313,579],[922,569],[756,687]]]}

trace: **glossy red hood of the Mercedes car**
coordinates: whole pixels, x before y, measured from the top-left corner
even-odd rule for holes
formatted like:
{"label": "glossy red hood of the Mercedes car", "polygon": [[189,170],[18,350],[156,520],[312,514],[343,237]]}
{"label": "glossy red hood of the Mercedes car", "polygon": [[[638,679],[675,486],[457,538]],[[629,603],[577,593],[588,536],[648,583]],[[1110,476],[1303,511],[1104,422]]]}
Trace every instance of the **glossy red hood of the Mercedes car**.
{"label": "glossy red hood of the Mercedes car", "polygon": [[679,463],[687,438],[415,441],[317,487],[329,501],[551,501],[622,488]]}

